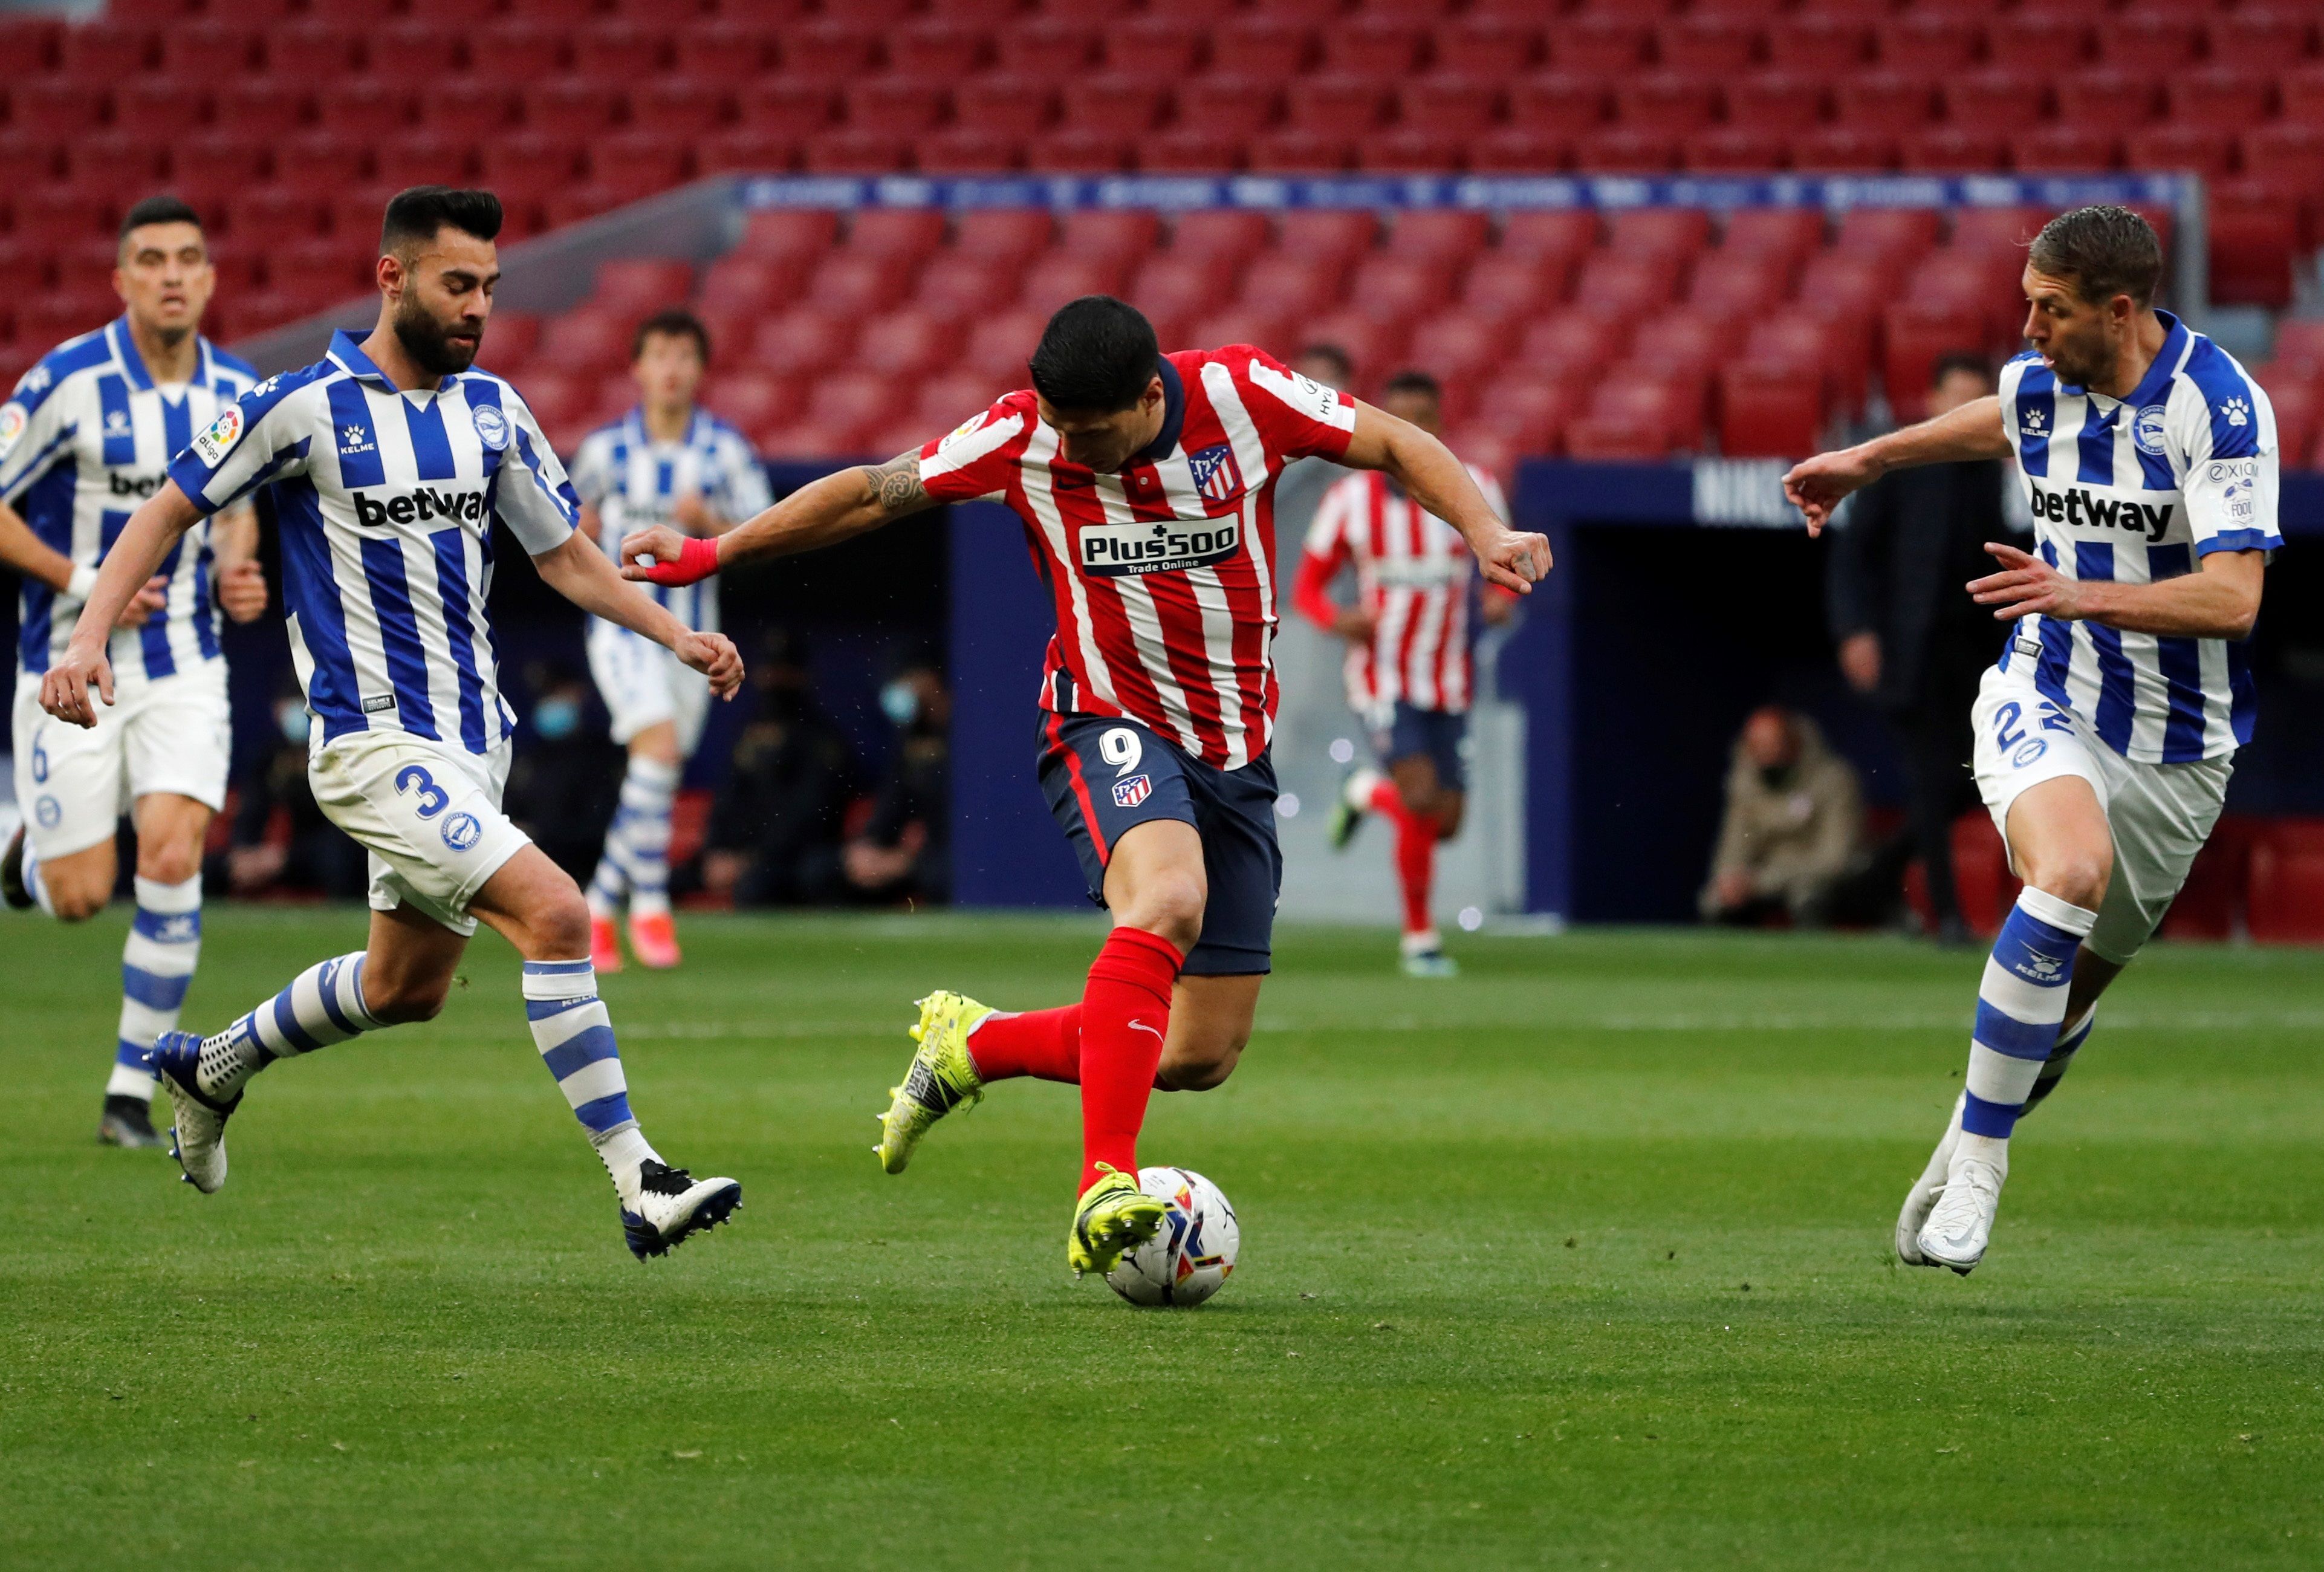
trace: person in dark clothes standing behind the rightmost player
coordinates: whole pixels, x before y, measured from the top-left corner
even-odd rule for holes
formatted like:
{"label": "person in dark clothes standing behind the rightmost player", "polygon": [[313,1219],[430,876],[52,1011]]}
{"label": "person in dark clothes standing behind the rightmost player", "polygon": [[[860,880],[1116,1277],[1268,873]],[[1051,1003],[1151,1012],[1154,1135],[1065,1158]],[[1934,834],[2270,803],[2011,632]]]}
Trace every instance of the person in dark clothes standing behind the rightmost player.
{"label": "person in dark clothes standing behind the rightmost player", "polygon": [[[1929,386],[1929,416],[1992,391],[1992,370],[1980,356],[1943,356]],[[1978,800],[1968,779],[1968,712],[1985,667],[2008,637],[1964,586],[1992,572],[1985,542],[2010,540],[2003,481],[1999,460],[1887,474],[1850,502],[1827,558],[1824,593],[1841,674],[1896,735],[1908,793],[1899,853],[1920,853],[1945,944],[1968,942],[1952,877],[1952,821]],[[1885,860],[1901,870],[1903,856]]]}

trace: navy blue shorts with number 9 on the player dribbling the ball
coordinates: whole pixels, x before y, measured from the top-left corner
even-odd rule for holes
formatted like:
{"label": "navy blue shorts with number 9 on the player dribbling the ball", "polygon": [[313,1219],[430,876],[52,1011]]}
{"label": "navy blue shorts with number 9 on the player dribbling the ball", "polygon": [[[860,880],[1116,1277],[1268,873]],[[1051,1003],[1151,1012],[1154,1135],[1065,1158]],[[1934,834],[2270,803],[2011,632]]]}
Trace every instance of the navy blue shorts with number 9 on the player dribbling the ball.
{"label": "navy blue shorts with number 9 on the player dribbling the ball", "polygon": [[1269,972],[1283,846],[1276,844],[1276,763],[1241,770],[1190,758],[1136,721],[1041,716],[1041,795],[1081,858],[1090,900],[1106,905],[1106,860],[1134,826],[1176,819],[1202,835],[1211,895],[1188,977]]}

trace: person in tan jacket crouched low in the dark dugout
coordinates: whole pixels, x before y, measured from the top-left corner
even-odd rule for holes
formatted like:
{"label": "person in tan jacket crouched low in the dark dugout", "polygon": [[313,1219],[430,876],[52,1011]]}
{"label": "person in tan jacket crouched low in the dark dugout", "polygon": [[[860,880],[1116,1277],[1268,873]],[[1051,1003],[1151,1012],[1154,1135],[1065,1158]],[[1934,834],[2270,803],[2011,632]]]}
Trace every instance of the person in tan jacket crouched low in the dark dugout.
{"label": "person in tan jacket crouched low in the dark dugout", "polygon": [[1857,916],[1864,793],[1857,770],[1803,714],[1764,705],[1736,737],[1727,816],[1710,856],[1701,914],[1755,926],[1789,916],[1806,928]]}

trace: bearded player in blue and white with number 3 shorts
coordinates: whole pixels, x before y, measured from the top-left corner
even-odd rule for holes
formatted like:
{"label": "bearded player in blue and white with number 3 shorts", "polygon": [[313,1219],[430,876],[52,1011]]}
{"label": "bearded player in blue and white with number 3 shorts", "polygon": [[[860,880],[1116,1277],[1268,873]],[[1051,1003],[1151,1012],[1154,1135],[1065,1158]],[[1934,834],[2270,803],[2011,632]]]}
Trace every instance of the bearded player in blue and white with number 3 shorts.
{"label": "bearded player in blue and white with number 3 shorts", "polygon": [[290,656],[316,719],[314,795],[372,853],[372,935],[214,1037],[160,1035],[153,1070],[177,1105],[179,1165],[205,1195],[225,1184],[225,1121],[274,1060],[432,1019],[483,919],[525,958],[532,1042],[644,1260],[725,1221],[741,1186],[695,1181],[646,1144],[588,963],[588,902],[500,809],[516,723],[486,612],[493,519],[553,591],[679,651],[711,691],[732,693],[741,660],[621,581],[574,528],[581,505],[525,400],[472,370],[497,233],[490,191],[414,186],[388,202],[370,337],[335,335],[328,358],[267,377],[170,460],[105,558],[42,707],[95,726],[114,702],[107,630],[137,586],[207,514],[272,486]]}

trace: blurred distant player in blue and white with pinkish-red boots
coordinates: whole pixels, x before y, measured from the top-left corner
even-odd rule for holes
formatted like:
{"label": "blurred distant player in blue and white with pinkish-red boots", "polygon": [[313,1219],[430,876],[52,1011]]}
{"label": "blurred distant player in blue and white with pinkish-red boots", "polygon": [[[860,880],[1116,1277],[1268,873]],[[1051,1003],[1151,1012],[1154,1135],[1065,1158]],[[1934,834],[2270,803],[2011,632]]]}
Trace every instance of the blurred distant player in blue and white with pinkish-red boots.
{"label": "blurred distant player in blue and white with pinkish-red boots", "polygon": [[[711,335],[693,312],[655,312],[639,323],[630,346],[637,409],[593,430],[574,453],[581,533],[607,556],[632,530],[667,523],[686,535],[718,535],[772,502],[751,442],[695,405],[709,358]],[[718,628],[713,588],[651,593],[688,628]],[[686,758],[702,742],[711,691],[672,651],[602,616],[588,626],[588,665],[614,716],[614,742],[630,749],[621,807],[588,886],[590,960],[600,972],[621,970],[614,914],[627,902],[639,965],[672,967],[679,935],[669,919],[669,805]]]}

